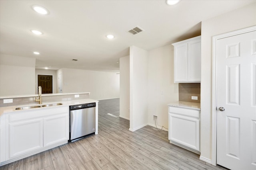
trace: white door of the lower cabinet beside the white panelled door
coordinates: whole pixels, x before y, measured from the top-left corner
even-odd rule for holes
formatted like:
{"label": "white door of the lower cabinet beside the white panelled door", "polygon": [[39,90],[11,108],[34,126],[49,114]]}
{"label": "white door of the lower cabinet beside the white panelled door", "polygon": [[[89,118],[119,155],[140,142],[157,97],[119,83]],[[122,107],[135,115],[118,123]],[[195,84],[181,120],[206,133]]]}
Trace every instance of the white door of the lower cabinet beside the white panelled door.
{"label": "white door of the lower cabinet beside the white panelled door", "polygon": [[169,140],[199,151],[199,119],[169,113]]}

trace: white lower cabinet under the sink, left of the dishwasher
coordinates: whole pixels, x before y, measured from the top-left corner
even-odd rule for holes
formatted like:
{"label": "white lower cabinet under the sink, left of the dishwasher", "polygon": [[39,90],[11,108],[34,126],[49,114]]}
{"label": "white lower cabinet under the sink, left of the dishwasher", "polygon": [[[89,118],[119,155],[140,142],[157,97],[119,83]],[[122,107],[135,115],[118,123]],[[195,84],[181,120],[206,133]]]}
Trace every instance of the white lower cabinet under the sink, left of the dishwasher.
{"label": "white lower cabinet under the sink, left of the dishwasher", "polygon": [[1,150],[1,164],[68,143],[68,106],[14,111],[6,113],[5,119],[5,144],[1,142],[1,149],[6,150]]}

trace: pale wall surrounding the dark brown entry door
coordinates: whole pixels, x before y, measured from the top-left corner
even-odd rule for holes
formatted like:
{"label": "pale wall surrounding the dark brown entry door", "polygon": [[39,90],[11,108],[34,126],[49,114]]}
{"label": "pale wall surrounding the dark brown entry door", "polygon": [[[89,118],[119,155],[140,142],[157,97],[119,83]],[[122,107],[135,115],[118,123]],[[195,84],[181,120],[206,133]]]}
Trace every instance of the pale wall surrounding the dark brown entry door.
{"label": "pale wall surrounding the dark brown entry door", "polygon": [[57,84],[56,84],[56,70],[40,70],[36,69],[36,93],[38,88],[38,75],[50,75],[52,76],[52,93],[57,93]]}

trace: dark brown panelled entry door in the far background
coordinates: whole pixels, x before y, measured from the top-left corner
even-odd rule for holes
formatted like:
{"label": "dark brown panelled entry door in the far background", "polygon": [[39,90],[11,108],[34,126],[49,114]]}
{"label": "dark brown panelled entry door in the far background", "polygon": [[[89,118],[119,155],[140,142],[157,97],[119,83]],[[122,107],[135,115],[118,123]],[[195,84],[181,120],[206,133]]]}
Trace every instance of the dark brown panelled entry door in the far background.
{"label": "dark brown panelled entry door in the far background", "polygon": [[38,86],[42,87],[42,94],[52,93],[52,76],[38,75]]}

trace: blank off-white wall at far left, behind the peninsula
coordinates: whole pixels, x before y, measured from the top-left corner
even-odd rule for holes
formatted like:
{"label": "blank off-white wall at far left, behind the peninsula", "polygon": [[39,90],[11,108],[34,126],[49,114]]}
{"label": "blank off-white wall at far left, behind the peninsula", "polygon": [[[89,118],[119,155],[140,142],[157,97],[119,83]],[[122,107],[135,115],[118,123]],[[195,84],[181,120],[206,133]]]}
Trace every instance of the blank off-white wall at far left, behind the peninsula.
{"label": "blank off-white wall at far left, behind the peninsula", "polygon": [[36,59],[0,55],[0,96],[35,94]]}

